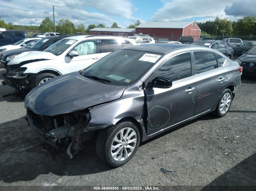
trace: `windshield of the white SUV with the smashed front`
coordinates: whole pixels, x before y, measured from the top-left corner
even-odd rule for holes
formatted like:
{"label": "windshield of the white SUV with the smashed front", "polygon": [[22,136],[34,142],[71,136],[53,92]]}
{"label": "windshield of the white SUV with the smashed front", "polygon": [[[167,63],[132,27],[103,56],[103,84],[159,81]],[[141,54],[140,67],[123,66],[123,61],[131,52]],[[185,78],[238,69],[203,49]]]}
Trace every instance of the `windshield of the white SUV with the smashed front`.
{"label": "windshield of the white SUV with the smashed front", "polygon": [[54,43],[52,46],[49,46],[43,52],[49,52],[54,54],[55,56],[61,55],[69,46],[74,44],[77,40],[72,39],[62,39],[57,43]]}

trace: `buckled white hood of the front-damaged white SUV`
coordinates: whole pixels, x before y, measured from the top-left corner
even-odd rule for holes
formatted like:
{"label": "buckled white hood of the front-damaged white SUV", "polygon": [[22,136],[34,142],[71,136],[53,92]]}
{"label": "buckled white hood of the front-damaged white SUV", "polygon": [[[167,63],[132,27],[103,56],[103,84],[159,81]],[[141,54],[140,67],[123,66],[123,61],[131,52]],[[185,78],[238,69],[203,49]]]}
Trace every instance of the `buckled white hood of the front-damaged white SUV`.
{"label": "buckled white hood of the front-damaged white SUV", "polygon": [[19,54],[18,56],[15,56],[15,58],[10,60],[10,62],[8,62],[7,65],[19,64],[27,60],[35,60],[35,59],[53,60],[56,57],[57,56],[55,56],[54,54],[48,53],[48,52],[30,51],[30,52],[24,52]]}

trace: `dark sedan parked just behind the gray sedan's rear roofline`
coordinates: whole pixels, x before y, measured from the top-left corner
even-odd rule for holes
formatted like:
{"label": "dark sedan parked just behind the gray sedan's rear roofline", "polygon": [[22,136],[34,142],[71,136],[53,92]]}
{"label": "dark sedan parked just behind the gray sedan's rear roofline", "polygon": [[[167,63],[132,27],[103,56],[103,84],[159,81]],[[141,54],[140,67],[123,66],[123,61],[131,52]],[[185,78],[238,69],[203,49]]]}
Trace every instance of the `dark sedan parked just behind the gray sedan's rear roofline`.
{"label": "dark sedan parked just behind the gray sedan's rear roofline", "polygon": [[229,59],[233,58],[233,49],[219,40],[206,40],[192,43],[193,45],[205,46],[215,50],[218,50]]}

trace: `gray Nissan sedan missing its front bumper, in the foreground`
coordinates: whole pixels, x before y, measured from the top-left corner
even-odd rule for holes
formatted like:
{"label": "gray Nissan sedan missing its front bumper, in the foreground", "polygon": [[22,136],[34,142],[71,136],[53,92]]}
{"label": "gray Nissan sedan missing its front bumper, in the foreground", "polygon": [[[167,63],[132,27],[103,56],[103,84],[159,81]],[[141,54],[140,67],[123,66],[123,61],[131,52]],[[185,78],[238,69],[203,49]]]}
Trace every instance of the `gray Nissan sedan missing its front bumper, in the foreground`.
{"label": "gray Nissan sedan missing its front bumper, in the foreground", "polygon": [[28,123],[48,151],[69,158],[97,136],[99,158],[117,167],[140,142],[209,112],[226,115],[241,73],[237,62],[202,46],[129,46],[30,91]]}

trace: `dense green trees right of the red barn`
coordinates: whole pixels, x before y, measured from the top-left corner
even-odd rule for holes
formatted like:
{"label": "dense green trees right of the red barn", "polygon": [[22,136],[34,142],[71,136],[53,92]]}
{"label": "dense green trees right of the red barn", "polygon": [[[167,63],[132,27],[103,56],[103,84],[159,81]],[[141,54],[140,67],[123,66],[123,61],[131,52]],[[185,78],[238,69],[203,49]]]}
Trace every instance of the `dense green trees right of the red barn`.
{"label": "dense green trees right of the red barn", "polygon": [[201,29],[201,36],[256,36],[256,17],[247,16],[233,22],[216,17],[214,21],[197,25]]}

